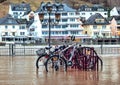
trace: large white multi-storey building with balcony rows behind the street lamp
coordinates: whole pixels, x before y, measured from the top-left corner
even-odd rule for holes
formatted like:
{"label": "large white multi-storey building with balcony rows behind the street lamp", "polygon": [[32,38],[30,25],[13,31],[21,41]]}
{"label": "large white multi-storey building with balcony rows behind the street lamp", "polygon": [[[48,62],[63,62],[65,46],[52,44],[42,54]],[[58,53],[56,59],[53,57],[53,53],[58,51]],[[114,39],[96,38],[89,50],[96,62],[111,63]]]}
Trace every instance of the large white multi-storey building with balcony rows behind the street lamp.
{"label": "large white multi-storey building with balcony rows behind the street lamp", "polygon": [[51,23],[55,21],[55,5],[59,6],[58,12],[60,13],[60,21],[57,25],[51,24],[51,38],[52,39],[66,39],[68,36],[75,36],[76,38],[80,39],[85,37],[82,34],[83,28],[81,27],[81,23],[78,20],[79,15],[76,13],[75,9],[72,9],[66,4],[61,3],[41,3],[36,13],[43,12],[44,13],[44,20],[41,22],[41,28],[39,28],[42,32],[42,37],[48,39],[49,36],[49,26],[48,26],[48,11],[46,10],[46,4],[50,4],[53,6],[53,10],[51,13]]}

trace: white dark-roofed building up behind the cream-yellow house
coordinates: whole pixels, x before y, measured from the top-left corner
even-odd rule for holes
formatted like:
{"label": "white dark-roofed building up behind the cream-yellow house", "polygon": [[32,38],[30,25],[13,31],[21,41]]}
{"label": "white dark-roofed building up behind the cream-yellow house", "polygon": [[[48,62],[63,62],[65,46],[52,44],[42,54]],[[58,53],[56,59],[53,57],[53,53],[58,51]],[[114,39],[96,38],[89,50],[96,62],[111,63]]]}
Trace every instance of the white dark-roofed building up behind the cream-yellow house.
{"label": "white dark-roofed building up behind the cream-yellow house", "polygon": [[82,20],[87,20],[90,16],[96,13],[101,14],[104,18],[108,17],[107,9],[101,5],[93,5],[93,6],[82,5],[78,9],[78,13]]}

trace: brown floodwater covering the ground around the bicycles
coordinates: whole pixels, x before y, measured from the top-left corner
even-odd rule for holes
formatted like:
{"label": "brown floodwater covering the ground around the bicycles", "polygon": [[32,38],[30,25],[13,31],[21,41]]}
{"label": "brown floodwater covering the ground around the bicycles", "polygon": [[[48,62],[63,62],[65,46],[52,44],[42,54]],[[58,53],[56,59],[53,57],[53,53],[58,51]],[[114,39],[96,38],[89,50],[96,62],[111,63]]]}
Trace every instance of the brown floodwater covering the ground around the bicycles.
{"label": "brown floodwater covering the ground around the bicycles", "polygon": [[36,56],[0,56],[0,85],[120,85],[120,57],[102,57],[103,69],[46,73]]}

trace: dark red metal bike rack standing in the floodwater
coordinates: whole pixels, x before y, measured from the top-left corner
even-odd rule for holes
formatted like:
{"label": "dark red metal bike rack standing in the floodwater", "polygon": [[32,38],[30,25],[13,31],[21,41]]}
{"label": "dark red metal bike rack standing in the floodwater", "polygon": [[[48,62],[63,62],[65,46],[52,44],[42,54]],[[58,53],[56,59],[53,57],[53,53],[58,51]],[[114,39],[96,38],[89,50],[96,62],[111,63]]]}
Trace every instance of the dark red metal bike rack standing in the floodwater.
{"label": "dark red metal bike rack standing in the floodwater", "polygon": [[[66,59],[68,58],[68,56],[69,55],[66,56]],[[73,65],[71,66],[71,68],[80,70],[99,70],[99,68],[102,69],[103,67],[103,61],[98,56],[97,52],[94,50],[93,47],[79,47],[76,57],[79,58],[79,61],[76,62],[75,57],[73,57]]]}

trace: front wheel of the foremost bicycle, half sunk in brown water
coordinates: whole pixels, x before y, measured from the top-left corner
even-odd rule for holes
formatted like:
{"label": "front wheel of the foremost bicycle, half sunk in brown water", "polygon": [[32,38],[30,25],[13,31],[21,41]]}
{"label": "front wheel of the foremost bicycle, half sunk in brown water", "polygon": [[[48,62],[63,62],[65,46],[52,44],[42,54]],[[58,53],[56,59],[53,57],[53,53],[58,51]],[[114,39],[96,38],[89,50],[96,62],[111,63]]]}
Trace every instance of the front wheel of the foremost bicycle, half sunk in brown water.
{"label": "front wheel of the foremost bicycle, half sunk in brown water", "polygon": [[53,55],[47,59],[45,68],[47,72],[64,72],[67,71],[67,63],[63,57],[59,57],[59,55]]}

